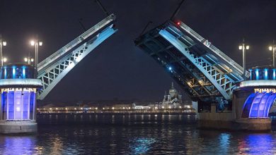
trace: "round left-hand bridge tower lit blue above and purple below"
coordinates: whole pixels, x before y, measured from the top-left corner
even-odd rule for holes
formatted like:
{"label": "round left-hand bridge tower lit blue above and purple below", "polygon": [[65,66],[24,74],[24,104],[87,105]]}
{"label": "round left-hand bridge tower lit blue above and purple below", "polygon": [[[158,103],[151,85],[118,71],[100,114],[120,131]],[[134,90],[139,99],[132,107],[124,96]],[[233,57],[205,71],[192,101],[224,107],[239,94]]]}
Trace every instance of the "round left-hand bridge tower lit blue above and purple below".
{"label": "round left-hand bridge tower lit blue above and purple below", "polygon": [[35,68],[13,63],[1,67],[0,133],[37,132],[36,95],[42,87]]}

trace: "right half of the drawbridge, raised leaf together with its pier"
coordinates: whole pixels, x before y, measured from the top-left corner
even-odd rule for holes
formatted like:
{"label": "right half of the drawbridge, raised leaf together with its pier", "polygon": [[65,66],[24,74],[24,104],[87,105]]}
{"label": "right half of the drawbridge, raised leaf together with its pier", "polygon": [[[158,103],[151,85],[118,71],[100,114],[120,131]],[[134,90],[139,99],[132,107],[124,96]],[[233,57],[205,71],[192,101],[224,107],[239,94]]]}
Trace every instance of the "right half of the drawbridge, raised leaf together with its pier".
{"label": "right half of the drawbridge, raised leaf together with its pier", "polygon": [[[202,126],[270,130],[274,68],[249,72],[180,20],[168,20],[137,37],[134,43],[196,101]],[[255,85],[249,87],[248,83]]]}

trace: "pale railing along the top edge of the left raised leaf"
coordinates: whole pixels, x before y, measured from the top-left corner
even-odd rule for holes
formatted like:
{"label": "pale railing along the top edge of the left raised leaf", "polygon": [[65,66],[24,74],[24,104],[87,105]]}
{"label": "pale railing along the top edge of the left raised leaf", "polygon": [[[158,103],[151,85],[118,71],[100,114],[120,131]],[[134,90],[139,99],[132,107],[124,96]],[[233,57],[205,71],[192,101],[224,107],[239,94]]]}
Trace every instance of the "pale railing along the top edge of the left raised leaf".
{"label": "pale railing along the top edge of the left raised leaf", "polygon": [[62,55],[66,54],[67,51],[69,51],[70,49],[73,49],[74,46],[82,42],[84,39],[93,35],[95,32],[105,27],[105,25],[108,25],[109,23],[111,23],[113,20],[115,20],[115,18],[116,18],[115,15],[111,14],[107,18],[101,20],[100,23],[94,25],[89,30],[81,34],[79,37],[76,37],[76,39],[72,40],[67,45],[63,46],[62,49],[59,49],[58,51],[54,52],[54,54],[52,54],[51,56],[45,58],[45,60],[38,63],[38,72],[40,72],[40,70],[48,66],[50,63],[53,63],[54,61],[59,59]]}

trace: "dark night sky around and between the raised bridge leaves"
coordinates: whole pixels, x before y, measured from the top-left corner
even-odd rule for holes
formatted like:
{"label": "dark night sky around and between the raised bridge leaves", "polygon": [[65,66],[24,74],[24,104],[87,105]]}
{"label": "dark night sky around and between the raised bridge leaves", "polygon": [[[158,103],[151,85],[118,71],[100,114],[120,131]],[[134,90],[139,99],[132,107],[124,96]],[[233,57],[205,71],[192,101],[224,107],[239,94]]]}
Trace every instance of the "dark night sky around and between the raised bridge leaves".
{"label": "dark night sky around and between the raised bridge leaves", "polygon": [[[142,99],[159,101],[171,85],[171,77],[153,59],[134,46],[133,39],[146,23],[155,27],[168,18],[180,0],[102,0],[117,16],[117,34],[86,56],[54,87],[45,101]],[[0,33],[8,42],[4,56],[22,62],[34,49],[29,40],[43,41],[40,61],[105,18],[93,0],[1,0]],[[276,39],[275,0],[186,0],[177,18],[241,64],[238,43],[246,38],[251,49],[248,65],[268,65],[268,44]],[[260,61],[257,62],[256,61]],[[254,63],[255,62],[255,63]]]}

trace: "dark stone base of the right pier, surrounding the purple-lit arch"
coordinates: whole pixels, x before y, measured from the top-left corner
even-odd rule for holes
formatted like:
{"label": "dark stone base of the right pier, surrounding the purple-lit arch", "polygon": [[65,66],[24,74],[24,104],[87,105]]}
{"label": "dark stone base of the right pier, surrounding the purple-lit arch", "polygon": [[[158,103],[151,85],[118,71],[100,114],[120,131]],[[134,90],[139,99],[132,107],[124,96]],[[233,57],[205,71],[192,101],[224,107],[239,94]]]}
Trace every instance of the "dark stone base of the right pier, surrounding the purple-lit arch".
{"label": "dark stone base of the right pier, surrounding the purple-lit arch", "polygon": [[211,104],[210,112],[198,113],[198,127],[216,130],[270,131],[270,118],[244,118],[242,116],[246,99],[252,93],[254,89],[236,89],[233,92],[232,111],[217,112],[216,104]]}

